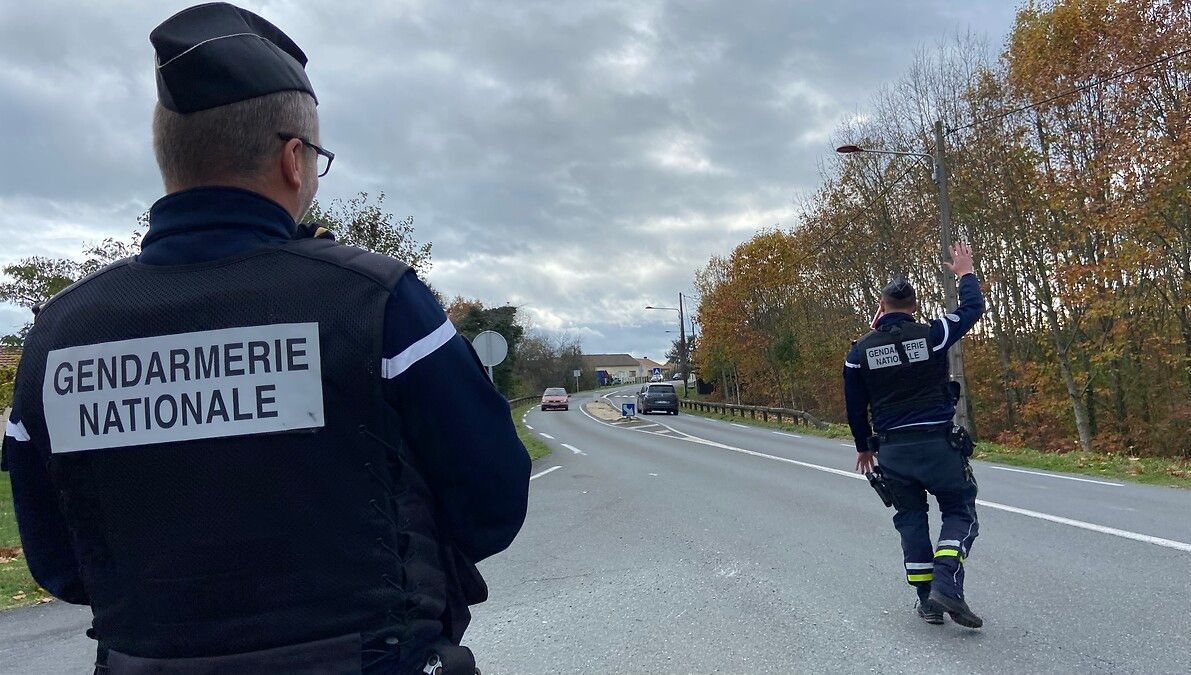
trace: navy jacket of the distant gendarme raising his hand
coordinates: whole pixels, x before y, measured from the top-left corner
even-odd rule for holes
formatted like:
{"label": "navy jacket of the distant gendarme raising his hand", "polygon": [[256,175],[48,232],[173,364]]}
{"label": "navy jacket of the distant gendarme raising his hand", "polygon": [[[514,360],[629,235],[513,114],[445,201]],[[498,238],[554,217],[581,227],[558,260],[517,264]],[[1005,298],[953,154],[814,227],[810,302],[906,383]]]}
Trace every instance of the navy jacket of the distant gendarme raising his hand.
{"label": "navy jacket of the distant gendarme raising his hand", "polygon": [[[946,356],[947,350],[980,320],[984,314],[984,294],[974,274],[965,274],[959,283],[960,306],[954,313],[944,314],[930,321],[928,342],[935,352]],[[904,312],[891,312],[877,320],[877,327],[912,321],[913,317]],[[848,407],[848,426],[856,442],[856,451],[868,451],[868,437],[873,429],[890,431],[911,426],[934,426],[949,423],[955,417],[955,406],[941,405],[933,408],[911,410],[902,413],[878,415],[871,423],[868,419],[868,387],[860,374],[861,355],[855,345],[843,361],[843,398]]]}

